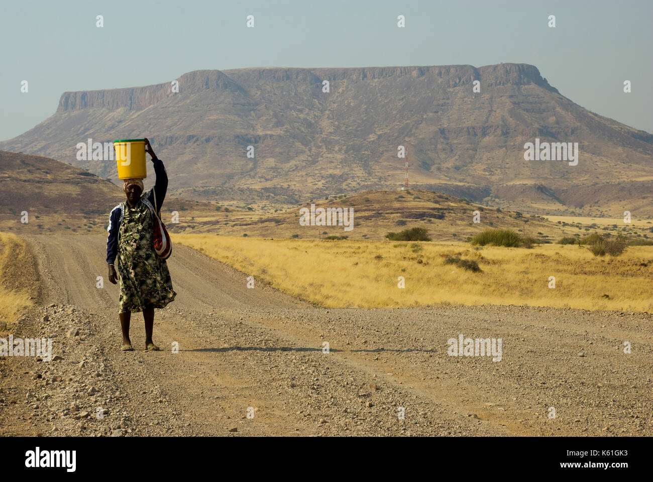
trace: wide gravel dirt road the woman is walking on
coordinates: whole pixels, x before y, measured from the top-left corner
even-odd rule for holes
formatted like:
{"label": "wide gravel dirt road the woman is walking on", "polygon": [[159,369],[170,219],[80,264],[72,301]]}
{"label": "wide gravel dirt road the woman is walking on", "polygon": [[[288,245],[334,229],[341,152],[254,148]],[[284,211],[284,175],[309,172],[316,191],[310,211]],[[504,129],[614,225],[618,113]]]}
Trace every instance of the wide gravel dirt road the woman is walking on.
{"label": "wide gravel dirt road the woman is walking on", "polygon": [[[106,238],[26,239],[42,295],[13,334],[61,359],[0,357],[1,435],[653,435],[647,313],[327,310],[175,245],[162,351],[134,313],[121,352]],[[501,339],[500,360],[449,356],[460,334]]]}

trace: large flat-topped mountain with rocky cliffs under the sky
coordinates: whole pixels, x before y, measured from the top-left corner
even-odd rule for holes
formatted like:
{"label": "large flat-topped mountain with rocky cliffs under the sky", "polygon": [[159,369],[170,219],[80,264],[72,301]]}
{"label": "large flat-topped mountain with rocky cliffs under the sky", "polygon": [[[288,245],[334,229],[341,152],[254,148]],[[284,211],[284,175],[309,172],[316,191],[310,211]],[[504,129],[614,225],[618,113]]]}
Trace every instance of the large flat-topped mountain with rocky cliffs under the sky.
{"label": "large flat-topped mountain with rocky cliffs under the sky", "polygon": [[[170,81],[66,92],[52,117],[0,149],[111,178],[113,162],[78,161],[76,144],[149,137],[172,195],[274,210],[396,189],[407,144],[411,187],[536,214],[653,216],[653,135],[573,103],[533,65],[253,68],[177,80],[178,93]],[[535,138],[578,142],[578,165],[525,161]]]}

